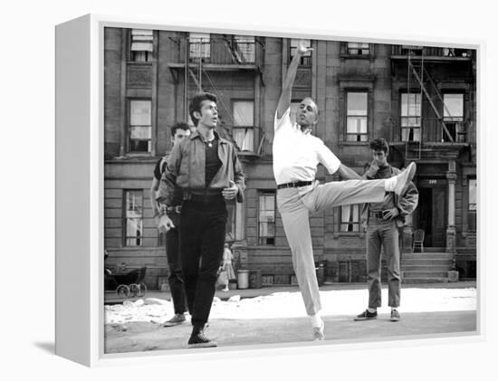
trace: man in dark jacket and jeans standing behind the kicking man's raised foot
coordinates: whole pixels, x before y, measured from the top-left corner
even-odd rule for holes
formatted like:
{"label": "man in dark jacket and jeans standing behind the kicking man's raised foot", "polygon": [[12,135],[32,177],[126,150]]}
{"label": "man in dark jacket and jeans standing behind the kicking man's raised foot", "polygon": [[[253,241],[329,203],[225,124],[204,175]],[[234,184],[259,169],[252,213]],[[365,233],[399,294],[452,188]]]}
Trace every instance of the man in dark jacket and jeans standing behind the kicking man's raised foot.
{"label": "man in dark jacket and jeans standing behind the kicking man's raised foot", "polygon": [[[364,177],[380,179],[397,176],[401,171],[388,164],[389,146],[384,138],[370,142],[373,161]],[[391,321],[399,320],[401,276],[399,270],[399,233],[405,218],[418,204],[417,188],[409,182],[401,193],[386,193],[379,203],[363,205],[361,223],[367,228],[367,270],[369,281],[369,307],[355,320],[377,319],[377,308],[381,306],[380,265],[381,247],[388,262],[388,305],[391,308]]]}

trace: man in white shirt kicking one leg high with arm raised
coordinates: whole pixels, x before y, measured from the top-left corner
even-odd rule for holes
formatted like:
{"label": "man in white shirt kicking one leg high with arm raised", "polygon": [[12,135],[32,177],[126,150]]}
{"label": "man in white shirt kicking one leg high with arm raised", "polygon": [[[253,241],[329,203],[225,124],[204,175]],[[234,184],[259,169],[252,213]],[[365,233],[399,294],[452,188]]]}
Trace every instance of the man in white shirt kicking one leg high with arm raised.
{"label": "man in white shirt kicking one leg high with arm raised", "polygon": [[[313,339],[323,340],[324,323],[320,315],[320,292],[311,245],[310,214],[333,206],[381,202],[386,192],[400,195],[415,175],[416,166],[410,163],[401,174],[388,179],[359,180],[361,177],[350,167],[342,165],[320,138],[311,135],[319,114],[311,98],[302,100],[296,113],[297,123],[292,125],[292,84],[302,54],[310,50],[304,41],[298,43],[283,82],[274,121],[273,175],[278,189],[277,206],[291,247],[292,265],[304,306],[311,318]],[[330,174],[337,172],[349,181],[320,185],[315,180],[319,163]]]}

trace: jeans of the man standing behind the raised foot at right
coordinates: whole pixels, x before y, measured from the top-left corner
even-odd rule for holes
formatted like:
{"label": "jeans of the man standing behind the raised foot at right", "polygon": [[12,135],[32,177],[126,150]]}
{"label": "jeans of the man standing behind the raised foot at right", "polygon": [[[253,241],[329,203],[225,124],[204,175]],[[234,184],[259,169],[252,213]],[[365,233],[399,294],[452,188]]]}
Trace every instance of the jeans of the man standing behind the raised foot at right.
{"label": "jeans of the man standing behind the raised foot at right", "polygon": [[369,273],[369,308],[381,306],[381,248],[388,262],[388,306],[398,307],[401,293],[399,238],[396,222],[369,217],[367,228],[367,270]]}

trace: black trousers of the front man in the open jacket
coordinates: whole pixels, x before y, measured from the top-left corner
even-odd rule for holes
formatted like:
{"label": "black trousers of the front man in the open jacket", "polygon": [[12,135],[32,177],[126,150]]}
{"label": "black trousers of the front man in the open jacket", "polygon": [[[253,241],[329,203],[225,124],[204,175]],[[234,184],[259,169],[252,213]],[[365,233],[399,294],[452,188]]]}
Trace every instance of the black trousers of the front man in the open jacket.
{"label": "black trousers of the front man in the open jacket", "polygon": [[192,325],[202,328],[209,318],[215,296],[216,271],[223,259],[226,228],[225,200],[184,201],[180,247],[182,271]]}

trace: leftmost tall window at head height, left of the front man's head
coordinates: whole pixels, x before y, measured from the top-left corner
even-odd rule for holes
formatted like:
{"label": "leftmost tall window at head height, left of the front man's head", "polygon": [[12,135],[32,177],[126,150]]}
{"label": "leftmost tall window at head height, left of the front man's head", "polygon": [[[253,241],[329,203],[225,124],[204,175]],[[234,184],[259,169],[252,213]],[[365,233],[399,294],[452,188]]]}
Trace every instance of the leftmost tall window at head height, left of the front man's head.
{"label": "leftmost tall window at head height, left of the front man's head", "polygon": [[129,152],[150,152],[152,148],[150,100],[129,101]]}

